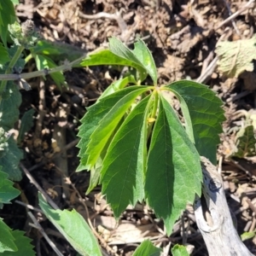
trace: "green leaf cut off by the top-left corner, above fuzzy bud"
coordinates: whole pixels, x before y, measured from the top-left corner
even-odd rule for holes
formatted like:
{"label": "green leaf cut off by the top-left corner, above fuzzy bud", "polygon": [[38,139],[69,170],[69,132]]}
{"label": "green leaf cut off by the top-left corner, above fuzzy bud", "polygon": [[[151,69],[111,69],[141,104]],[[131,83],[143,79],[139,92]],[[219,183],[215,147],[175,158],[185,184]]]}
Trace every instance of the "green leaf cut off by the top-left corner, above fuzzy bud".
{"label": "green leaf cut off by the top-left corner, above fuzzy bud", "polygon": [[10,0],[4,0],[0,3],[0,38],[5,47],[7,47],[8,25],[16,20],[14,3]]}

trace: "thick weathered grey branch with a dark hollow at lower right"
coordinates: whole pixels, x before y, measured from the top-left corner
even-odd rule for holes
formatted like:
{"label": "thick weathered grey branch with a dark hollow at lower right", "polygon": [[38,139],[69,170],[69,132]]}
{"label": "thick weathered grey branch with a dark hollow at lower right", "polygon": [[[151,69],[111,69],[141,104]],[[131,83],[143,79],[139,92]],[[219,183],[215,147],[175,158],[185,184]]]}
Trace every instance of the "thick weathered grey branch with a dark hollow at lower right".
{"label": "thick weathered grey branch with a dark hollow at lower right", "polygon": [[212,163],[201,157],[203,188],[195,200],[195,219],[207,245],[209,256],[253,255],[242,243],[233,224],[222,177]]}

